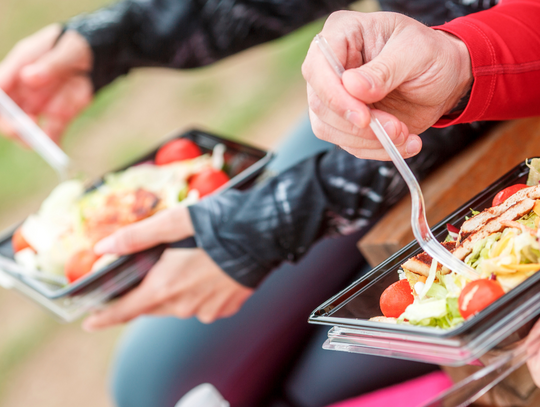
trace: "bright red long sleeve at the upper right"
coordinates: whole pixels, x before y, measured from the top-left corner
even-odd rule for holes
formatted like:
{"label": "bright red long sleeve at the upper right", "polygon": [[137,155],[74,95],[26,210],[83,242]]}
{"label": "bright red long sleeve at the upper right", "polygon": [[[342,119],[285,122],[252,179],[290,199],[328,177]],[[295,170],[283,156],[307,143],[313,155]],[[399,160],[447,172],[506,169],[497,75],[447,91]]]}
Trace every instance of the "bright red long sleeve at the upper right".
{"label": "bright red long sleeve at the upper right", "polygon": [[540,115],[540,0],[502,0],[434,28],[467,45],[474,75],[466,109],[436,127]]}

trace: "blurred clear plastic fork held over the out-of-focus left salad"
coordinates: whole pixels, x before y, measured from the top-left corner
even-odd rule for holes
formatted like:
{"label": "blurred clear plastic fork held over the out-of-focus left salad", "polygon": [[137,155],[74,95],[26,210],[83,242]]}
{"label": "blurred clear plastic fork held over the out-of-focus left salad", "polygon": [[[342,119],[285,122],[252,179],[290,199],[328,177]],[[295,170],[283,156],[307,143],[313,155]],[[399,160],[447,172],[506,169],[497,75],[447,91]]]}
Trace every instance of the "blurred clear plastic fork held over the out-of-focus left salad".
{"label": "blurred clear plastic fork held over the out-of-focus left salad", "polygon": [[0,115],[17,130],[21,139],[38,153],[61,180],[69,178],[70,159],[17,104],[0,89]]}

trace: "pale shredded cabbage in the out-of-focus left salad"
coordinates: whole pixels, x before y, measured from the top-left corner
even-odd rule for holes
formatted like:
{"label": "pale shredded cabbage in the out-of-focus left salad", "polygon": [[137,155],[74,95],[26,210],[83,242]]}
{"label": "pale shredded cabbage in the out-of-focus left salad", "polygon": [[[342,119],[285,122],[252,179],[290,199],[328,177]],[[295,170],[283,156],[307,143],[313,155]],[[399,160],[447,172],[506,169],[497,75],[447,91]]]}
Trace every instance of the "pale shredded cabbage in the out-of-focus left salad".
{"label": "pale shredded cabbage in the out-of-focus left salad", "polygon": [[[224,147],[216,147],[214,160],[205,154],[167,165],[130,167],[106,175],[103,184],[88,193],[85,193],[81,181],[61,183],[43,201],[39,211],[30,215],[22,225],[22,236],[36,251],[35,256],[23,253],[17,256],[16,261],[23,266],[34,265],[33,269],[47,274],[63,275],[66,261],[94,243],[85,233],[88,220],[85,217],[105,207],[111,194],[144,189],[159,197],[160,209],[193,204],[199,200],[199,194],[197,191],[188,193],[188,178],[213,165],[223,166],[219,163],[223,160],[223,153]],[[111,261],[112,257],[106,257],[95,267],[103,267]]]}

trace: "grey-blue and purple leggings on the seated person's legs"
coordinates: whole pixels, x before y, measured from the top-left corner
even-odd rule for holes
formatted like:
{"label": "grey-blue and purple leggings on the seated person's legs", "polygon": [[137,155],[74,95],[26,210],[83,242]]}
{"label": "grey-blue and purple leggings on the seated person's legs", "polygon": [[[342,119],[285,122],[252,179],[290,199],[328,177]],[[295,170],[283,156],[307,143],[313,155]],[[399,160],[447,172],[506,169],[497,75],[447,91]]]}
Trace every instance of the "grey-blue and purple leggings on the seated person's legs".
{"label": "grey-blue and purple leggings on the seated person's legs", "polygon": [[[306,120],[272,169],[328,148]],[[201,383],[216,386],[232,407],[322,407],[436,369],[321,348],[328,327],[311,326],[307,317],[368,269],[358,237],[326,239],[299,263],[282,265],[231,318],[210,325],[139,318],[127,329],[112,369],[118,407],[172,407]]]}

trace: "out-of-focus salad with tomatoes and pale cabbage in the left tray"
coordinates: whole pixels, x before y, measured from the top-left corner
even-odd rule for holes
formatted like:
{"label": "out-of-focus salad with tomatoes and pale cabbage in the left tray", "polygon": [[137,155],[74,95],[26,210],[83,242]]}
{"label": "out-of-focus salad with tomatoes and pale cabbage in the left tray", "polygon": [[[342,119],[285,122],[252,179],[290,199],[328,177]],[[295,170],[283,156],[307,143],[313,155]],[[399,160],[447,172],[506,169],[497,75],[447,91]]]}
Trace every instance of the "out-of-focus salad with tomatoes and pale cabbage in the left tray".
{"label": "out-of-focus salad with tomatoes and pale cabbage in the left tray", "polygon": [[13,234],[15,261],[34,277],[65,284],[107,266],[117,256],[98,257],[93,247],[99,240],[227,183],[223,152],[218,145],[212,155],[202,154],[191,140],[177,139],[161,147],[154,162],[108,174],[90,191],[78,180],[61,183]]}

